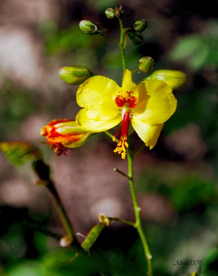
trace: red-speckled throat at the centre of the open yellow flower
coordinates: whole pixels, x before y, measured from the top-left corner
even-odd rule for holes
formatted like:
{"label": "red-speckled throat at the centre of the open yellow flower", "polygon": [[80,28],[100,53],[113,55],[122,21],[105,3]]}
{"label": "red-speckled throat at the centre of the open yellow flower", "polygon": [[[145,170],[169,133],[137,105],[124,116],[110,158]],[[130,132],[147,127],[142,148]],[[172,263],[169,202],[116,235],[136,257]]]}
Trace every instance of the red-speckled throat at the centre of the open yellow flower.
{"label": "red-speckled throat at the centre of the open yellow flower", "polygon": [[129,108],[134,108],[137,104],[137,98],[132,91],[119,90],[114,95],[113,99],[118,107],[127,106]]}

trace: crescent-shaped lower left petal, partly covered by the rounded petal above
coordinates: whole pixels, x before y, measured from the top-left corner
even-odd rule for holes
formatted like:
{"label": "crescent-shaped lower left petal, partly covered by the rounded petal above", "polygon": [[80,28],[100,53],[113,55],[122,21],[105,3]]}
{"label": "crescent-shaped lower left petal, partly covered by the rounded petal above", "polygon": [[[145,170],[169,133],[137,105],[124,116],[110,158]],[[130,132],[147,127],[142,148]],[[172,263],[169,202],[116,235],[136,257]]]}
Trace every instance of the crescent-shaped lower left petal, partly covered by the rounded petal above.
{"label": "crescent-shaped lower left petal, partly covered by the rounded petal above", "polygon": [[117,115],[115,118],[105,121],[93,120],[87,116],[87,109],[82,108],[76,115],[75,120],[77,125],[88,132],[102,132],[106,131],[116,125],[122,119],[121,115]]}

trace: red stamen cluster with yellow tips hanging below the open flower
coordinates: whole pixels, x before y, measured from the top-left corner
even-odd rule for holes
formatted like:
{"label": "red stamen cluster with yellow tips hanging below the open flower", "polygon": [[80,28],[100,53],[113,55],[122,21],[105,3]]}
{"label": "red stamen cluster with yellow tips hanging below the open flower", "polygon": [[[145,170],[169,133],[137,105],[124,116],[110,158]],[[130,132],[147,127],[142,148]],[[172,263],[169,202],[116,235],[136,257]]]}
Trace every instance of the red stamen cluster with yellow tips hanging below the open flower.
{"label": "red stamen cluster with yellow tips hanging below the open flower", "polygon": [[130,125],[130,111],[128,110],[128,108],[124,108],[123,114],[122,114],[121,127],[118,130],[118,132],[113,136],[113,141],[115,142],[116,137],[121,132],[119,141],[117,143],[117,147],[114,150],[114,152],[121,154],[122,159],[125,159],[127,154],[127,148],[128,148],[127,137],[128,137],[129,125]]}

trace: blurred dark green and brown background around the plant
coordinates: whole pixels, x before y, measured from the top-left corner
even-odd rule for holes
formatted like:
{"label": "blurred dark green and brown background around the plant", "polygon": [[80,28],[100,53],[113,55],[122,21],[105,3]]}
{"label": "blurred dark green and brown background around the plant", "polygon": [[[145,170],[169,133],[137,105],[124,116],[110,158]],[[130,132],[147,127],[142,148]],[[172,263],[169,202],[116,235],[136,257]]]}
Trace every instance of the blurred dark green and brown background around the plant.
{"label": "blurred dark green and brown background around the plant", "polygon": [[[119,48],[100,36],[83,34],[82,19],[93,20],[119,39],[108,7],[124,4],[124,25],[145,18],[141,45],[127,47],[129,69],[141,56],[155,70],[182,70],[186,84],[175,92],[178,107],[164,124],[157,145],[134,164],[142,219],[153,254],[154,276],[218,276],[218,1],[217,0],[0,0],[0,135],[40,147],[76,232],[83,235],[99,213],[134,220],[124,177],[127,162],[113,153],[104,133],[69,156],[55,157],[40,143],[40,128],[52,119],[75,118],[77,86],[61,81],[63,66],[81,65],[121,84]],[[135,74],[134,81],[145,78]],[[111,132],[115,133],[115,130]],[[142,145],[132,135],[134,150]],[[5,276],[100,275],[102,261],[76,259],[52,238],[20,223],[31,219],[63,235],[53,202],[36,186],[30,164],[14,168],[0,154],[0,274]],[[82,241],[82,237],[78,237]],[[135,229],[113,222],[95,248],[113,276],[145,275],[143,249]],[[200,260],[202,266],[173,265]],[[103,274],[101,274],[103,275]]]}

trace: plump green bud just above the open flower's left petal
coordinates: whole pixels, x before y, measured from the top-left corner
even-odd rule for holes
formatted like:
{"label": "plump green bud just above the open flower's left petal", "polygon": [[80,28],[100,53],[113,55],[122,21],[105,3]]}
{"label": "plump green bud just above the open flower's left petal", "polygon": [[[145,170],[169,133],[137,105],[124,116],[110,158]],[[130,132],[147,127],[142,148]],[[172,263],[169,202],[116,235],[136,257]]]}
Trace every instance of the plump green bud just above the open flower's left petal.
{"label": "plump green bud just above the open flower's left petal", "polygon": [[69,85],[79,85],[93,76],[87,67],[64,66],[59,70],[60,78]]}

